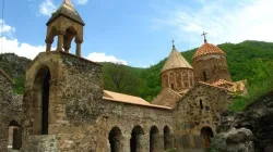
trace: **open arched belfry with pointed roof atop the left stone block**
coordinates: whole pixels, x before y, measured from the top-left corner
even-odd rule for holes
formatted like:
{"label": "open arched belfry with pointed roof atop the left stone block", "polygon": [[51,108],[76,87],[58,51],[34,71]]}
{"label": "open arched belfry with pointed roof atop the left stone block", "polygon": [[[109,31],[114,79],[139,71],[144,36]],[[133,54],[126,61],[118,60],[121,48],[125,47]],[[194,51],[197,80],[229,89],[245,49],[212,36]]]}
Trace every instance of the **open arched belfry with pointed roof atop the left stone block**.
{"label": "open arched belfry with pointed roof atop the left stone block", "polygon": [[84,22],[70,0],[64,0],[47,22],[46,51],[51,51],[54,38],[57,36],[57,50],[70,52],[71,42],[75,39],[75,55],[81,56]]}

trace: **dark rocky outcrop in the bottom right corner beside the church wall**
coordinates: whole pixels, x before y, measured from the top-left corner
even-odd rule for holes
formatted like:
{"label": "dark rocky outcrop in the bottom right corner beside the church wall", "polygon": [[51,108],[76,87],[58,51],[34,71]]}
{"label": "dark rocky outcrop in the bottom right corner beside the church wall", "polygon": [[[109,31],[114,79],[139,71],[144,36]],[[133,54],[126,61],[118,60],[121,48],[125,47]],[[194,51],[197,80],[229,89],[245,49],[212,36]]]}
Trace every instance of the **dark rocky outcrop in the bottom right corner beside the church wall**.
{"label": "dark rocky outcrop in the bottom right corner beside the church wall", "polygon": [[211,151],[273,152],[273,92],[252,102],[242,112],[225,112]]}

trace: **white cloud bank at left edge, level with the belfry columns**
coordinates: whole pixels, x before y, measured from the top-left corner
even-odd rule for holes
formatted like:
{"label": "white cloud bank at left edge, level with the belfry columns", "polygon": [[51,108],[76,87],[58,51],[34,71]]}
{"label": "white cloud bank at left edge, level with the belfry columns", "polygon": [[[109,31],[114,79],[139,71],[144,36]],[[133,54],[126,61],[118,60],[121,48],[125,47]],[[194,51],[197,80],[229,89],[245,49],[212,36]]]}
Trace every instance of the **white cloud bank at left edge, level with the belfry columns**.
{"label": "white cloud bank at left edge, level with the belfry columns", "polygon": [[0,38],[1,53],[15,53],[20,56],[34,59],[39,52],[46,51],[46,46],[32,46],[25,42],[19,42],[17,39]]}

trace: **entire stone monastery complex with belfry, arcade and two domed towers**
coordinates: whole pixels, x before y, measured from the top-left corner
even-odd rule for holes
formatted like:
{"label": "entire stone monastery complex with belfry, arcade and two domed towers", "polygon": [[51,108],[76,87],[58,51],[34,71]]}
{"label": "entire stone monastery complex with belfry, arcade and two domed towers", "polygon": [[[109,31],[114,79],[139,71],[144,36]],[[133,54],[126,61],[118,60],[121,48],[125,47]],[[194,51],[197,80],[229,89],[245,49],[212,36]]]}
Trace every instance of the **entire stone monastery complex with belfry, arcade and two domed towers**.
{"label": "entire stone monastery complex with belfry, arcade and two domed towers", "polygon": [[104,90],[102,65],[81,58],[84,22],[70,0],[46,25],[47,48],[26,69],[23,97],[0,69],[1,152],[201,152],[233,94],[246,92],[244,80],[232,81],[225,52],[206,39],[192,66],[173,45],[152,103]]}

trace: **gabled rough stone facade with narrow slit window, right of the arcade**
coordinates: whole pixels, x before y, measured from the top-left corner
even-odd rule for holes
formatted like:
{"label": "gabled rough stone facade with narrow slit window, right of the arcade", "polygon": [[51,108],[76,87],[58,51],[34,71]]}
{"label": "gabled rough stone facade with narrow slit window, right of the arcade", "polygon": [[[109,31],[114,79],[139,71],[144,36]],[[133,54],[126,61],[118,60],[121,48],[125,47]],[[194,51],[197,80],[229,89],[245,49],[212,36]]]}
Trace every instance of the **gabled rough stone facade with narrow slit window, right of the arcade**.
{"label": "gabled rough stone facade with narrow slit window, right of the arcade", "polygon": [[210,127],[215,134],[221,113],[227,110],[229,102],[228,91],[206,85],[197,85],[187,92],[174,113],[177,115],[174,119],[177,149],[201,148],[201,129]]}

